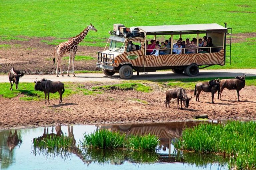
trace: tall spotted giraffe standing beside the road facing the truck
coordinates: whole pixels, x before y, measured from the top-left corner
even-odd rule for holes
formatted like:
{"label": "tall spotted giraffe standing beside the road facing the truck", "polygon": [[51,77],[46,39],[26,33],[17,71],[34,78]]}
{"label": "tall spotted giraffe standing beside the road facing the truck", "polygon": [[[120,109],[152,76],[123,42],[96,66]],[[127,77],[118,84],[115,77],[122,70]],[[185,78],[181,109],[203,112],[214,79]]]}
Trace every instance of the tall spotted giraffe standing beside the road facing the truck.
{"label": "tall spotted giraffe standing beside the road facing the truck", "polygon": [[69,76],[69,68],[70,68],[70,63],[72,60],[72,74],[74,75],[73,77],[75,77],[74,74],[74,61],[75,61],[75,56],[76,56],[76,52],[77,52],[77,45],[85,38],[85,36],[88,34],[88,32],[90,30],[94,30],[97,32],[97,30],[94,28],[94,26],[92,24],[90,24],[89,26],[87,26],[83,32],[81,32],[79,35],[77,35],[76,37],[73,37],[71,39],[69,39],[66,42],[60,43],[57,47],[55,47],[54,49],[54,59],[53,59],[53,64],[55,63],[55,51],[57,50],[57,55],[58,55],[58,59],[57,59],[57,68],[56,68],[56,76],[58,76],[58,66],[60,67],[60,73],[61,76],[64,76],[61,70],[61,58],[63,57],[63,55],[65,53],[69,53],[69,61],[68,61],[68,71],[67,71],[67,76]]}

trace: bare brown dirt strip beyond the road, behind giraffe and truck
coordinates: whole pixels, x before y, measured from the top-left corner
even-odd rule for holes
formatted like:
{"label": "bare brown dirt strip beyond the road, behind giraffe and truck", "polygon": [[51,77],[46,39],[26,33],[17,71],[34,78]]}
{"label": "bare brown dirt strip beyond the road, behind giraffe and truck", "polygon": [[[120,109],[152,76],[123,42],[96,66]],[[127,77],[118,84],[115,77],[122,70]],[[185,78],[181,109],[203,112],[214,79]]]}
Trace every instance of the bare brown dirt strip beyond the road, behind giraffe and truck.
{"label": "bare brown dirt strip beyond the road, behind giraffe and truck", "polygon": [[[232,35],[232,43],[246,41],[246,38],[255,37],[256,33]],[[42,40],[52,41],[55,38],[26,38],[29,41],[0,41],[0,45],[9,45],[9,48],[0,48],[0,73],[8,73],[11,67],[25,70],[26,74],[54,74],[56,65],[53,65],[55,45],[47,45]],[[78,46],[77,55],[92,56],[95,60],[75,61],[75,70],[99,71],[96,68],[97,52],[104,48]],[[68,54],[66,55],[68,56]],[[62,67],[67,71],[68,60],[62,60]]]}

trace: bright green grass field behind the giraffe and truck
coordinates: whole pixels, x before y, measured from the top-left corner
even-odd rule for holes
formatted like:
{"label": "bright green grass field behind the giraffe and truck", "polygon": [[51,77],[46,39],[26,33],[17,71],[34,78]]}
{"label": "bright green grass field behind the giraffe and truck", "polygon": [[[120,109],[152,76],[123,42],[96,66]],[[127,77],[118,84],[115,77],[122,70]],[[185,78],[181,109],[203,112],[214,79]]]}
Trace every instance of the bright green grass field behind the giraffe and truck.
{"label": "bright green grass field behind the giraffe and truck", "polygon": [[[145,4],[146,3],[146,4]],[[54,37],[46,44],[58,44],[78,35],[92,23],[80,45],[104,47],[114,23],[127,27],[218,23],[233,28],[233,34],[256,32],[256,1],[1,1],[0,40],[27,41],[25,37]],[[167,37],[166,37],[167,38]],[[184,37],[185,38],[185,37]],[[256,68],[256,37],[232,44],[231,65],[208,69]],[[9,48],[1,46],[0,48]]]}

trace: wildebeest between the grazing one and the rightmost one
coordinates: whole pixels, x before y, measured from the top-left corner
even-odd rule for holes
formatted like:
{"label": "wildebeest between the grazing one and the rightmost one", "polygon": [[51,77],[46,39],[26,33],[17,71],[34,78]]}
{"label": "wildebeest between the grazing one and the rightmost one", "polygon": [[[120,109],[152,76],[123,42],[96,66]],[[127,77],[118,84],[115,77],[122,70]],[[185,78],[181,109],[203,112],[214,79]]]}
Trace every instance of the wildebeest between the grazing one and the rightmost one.
{"label": "wildebeest between the grazing one and the rightmost one", "polygon": [[201,91],[204,92],[211,92],[212,93],[212,103],[214,103],[213,101],[213,97],[214,94],[218,91],[218,94],[220,92],[220,81],[219,79],[217,80],[210,80],[209,82],[204,82],[204,83],[198,83],[195,85],[195,90],[194,90],[194,96],[196,96],[196,101],[198,99],[199,101],[199,94]]}

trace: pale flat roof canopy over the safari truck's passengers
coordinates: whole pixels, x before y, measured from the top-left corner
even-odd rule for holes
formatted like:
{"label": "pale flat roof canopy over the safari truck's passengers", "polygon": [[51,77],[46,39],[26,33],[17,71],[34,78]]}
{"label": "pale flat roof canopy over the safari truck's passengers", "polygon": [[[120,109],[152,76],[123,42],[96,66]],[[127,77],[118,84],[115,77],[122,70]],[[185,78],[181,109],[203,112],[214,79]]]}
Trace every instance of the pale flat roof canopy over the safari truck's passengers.
{"label": "pale flat roof canopy over the safari truck's passengers", "polygon": [[138,26],[140,31],[146,35],[172,35],[172,34],[201,34],[220,32],[226,33],[227,28],[213,24],[187,24],[187,25],[159,25],[159,26]]}

